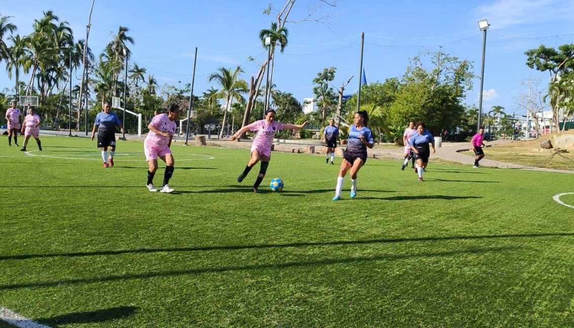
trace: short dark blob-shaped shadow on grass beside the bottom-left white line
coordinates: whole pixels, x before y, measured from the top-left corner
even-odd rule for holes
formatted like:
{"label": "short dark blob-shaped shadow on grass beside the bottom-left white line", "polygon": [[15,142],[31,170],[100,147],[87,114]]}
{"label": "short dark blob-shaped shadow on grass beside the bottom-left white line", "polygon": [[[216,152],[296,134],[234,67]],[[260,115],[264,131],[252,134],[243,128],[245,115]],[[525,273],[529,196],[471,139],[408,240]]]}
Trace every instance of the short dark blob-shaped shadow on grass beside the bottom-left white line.
{"label": "short dark blob-shaped shadow on grass beside the bottom-left white line", "polygon": [[90,312],[72,312],[52,318],[40,318],[35,321],[57,328],[58,326],[72,325],[74,323],[96,323],[121,319],[134,315],[136,310],[137,307],[134,306],[112,307]]}

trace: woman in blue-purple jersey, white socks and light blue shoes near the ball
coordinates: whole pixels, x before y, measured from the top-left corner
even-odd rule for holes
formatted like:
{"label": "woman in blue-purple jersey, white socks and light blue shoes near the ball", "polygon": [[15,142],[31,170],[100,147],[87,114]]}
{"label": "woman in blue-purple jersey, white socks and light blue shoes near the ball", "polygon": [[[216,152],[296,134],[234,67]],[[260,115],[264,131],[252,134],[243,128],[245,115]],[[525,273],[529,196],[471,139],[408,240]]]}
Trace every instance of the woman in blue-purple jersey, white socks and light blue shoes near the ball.
{"label": "woman in blue-purple jersey, white socks and light blue shoes near the ball", "polygon": [[341,144],[347,144],[347,151],[339,169],[333,200],[341,199],[343,182],[349,170],[351,170],[351,198],[355,198],[357,194],[357,173],[367,161],[367,147],[373,148],[375,144],[373,132],[367,128],[367,124],[369,124],[369,115],[366,111],[360,110],[355,114],[354,124],[349,128],[348,139],[341,140]]}

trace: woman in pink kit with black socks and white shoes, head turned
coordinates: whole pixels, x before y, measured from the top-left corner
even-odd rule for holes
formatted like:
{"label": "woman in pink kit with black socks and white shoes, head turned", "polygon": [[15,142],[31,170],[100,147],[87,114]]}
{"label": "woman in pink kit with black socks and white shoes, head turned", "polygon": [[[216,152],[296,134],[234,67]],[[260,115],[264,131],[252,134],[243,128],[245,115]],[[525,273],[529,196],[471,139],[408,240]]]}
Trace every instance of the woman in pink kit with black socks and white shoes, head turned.
{"label": "woman in pink kit with black socks and white shoes, head turned", "polygon": [[179,117],[179,106],[169,105],[168,112],[159,114],[153,117],[152,122],[148,125],[148,136],[144,141],[145,160],[148,162],[148,187],[149,191],[157,191],[153,185],[153,177],[157,171],[157,157],[160,157],[165,162],[164,183],[160,192],[173,192],[169,187],[169,179],[173,175],[173,160],[172,151],[169,147],[172,145],[173,134],[176,132],[176,122]]}

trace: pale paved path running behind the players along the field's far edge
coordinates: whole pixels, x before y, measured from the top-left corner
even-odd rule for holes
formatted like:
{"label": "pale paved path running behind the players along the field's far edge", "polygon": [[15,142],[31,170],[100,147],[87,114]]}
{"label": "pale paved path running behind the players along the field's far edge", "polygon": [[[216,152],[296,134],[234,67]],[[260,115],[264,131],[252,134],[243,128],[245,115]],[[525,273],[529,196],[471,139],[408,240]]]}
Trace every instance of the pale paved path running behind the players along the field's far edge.
{"label": "pale paved path running behind the players along the field's far edge", "polygon": [[[58,136],[68,136],[68,134],[69,134],[68,131],[51,131],[51,130],[42,130],[40,133],[41,134],[58,135]],[[86,132],[72,131],[72,136],[74,136],[74,137],[88,137],[89,138],[91,136],[91,132],[89,132],[88,136],[86,136]],[[121,135],[118,133],[118,134],[116,134],[116,136],[121,136]],[[142,135],[141,137],[138,137],[136,135],[126,134],[127,140],[143,140],[144,138],[145,138],[145,134]],[[211,139],[207,139],[207,136],[206,136],[206,141],[208,144],[217,144],[217,145],[220,145],[223,147],[229,147],[229,148],[247,148],[247,149],[249,149],[251,147],[251,141],[250,140],[237,142],[237,141],[227,141],[226,139],[218,139],[216,136],[212,136]],[[183,144],[185,142],[185,137],[175,137],[174,142],[176,142],[176,144]],[[509,140],[494,140],[494,141],[488,142],[488,145],[501,144],[501,143],[505,143],[505,142],[509,142]],[[193,137],[189,138],[189,143],[192,145],[195,145],[195,140]],[[286,141],[284,141],[284,140],[281,140],[280,144],[284,144],[284,143],[285,144],[298,145],[301,148],[303,148],[304,146],[307,146],[307,145],[315,145],[316,149],[318,149],[318,150],[322,151],[324,149],[322,146],[323,143],[320,141],[311,141],[311,140],[301,140],[301,141],[299,141],[299,140],[286,140]],[[487,145],[487,147],[488,147],[488,145]],[[436,148],[436,154],[434,156],[437,158],[440,158],[440,159],[448,160],[448,161],[454,161],[457,163],[472,165],[474,163],[474,156],[468,156],[468,155],[464,155],[464,154],[460,153],[461,151],[466,151],[468,149],[470,149],[470,142],[443,142],[441,147]],[[488,148],[486,148],[486,149],[488,149]],[[374,148],[372,151],[369,151],[369,152],[374,153],[379,158],[390,158],[390,159],[401,160],[404,157],[402,151],[403,151],[402,148],[396,148],[396,149],[394,149],[394,148],[393,149]],[[525,166],[525,165],[503,163],[503,162],[499,162],[499,161],[489,160],[488,159],[488,150],[486,151],[486,157],[480,161],[480,165],[482,165],[484,167],[526,169],[526,170],[530,170],[530,171],[560,172],[560,173],[571,173],[571,174],[574,173],[574,171],[568,171],[565,169],[530,167],[530,166]]]}

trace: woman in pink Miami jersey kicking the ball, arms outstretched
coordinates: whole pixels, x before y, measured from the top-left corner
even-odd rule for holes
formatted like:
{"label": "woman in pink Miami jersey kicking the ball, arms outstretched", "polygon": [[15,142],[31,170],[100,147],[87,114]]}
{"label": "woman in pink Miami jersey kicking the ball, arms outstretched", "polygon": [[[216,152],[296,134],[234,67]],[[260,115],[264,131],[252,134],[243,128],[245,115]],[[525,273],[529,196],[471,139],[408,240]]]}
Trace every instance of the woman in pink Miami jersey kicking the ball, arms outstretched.
{"label": "woman in pink Miami jersey kicking the ball, arms outstretched", "polygon": [[229,138],[230,141],[236,140],[248,130],[257,131],[257,136],[253,139],[253,144],[251,145],[251,159],[249,160],[249,163],[247,163],[243,173],[237,177],[237,182],[242,182],[247,174],[249,174],[249,171],[251,171],[251,168],[253,168],[258,161],[261,161],[259,175],[257,176],[257,180],[255,180],[255,184],[253,184],[253,191],[257,193],[261,192],[259,190],[259,184],[263,181],[263,177],[265,177],[265,173],[267,172],[267,167],[269,167],[269,161],[271,160],[271,145],[273,144],[275,133],[279,130],[299,130],[305,128],[305,125],[307,124],[309,124],[307,121],[301,125],[277,122],[275,121],[275,111],[270,109],[267,111],[265,119],[255,121],[250,125],[243,126],[243,128],[239,129],[238,132]]}

